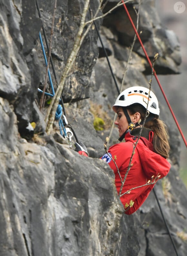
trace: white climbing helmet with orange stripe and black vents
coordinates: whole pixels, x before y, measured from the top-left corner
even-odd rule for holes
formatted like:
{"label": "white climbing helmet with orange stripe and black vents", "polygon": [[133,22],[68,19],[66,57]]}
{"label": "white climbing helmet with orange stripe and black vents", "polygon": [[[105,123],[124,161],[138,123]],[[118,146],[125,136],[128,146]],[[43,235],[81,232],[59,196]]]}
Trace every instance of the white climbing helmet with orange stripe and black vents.
{"label": "white climbing helmet with orange stripe and black vents", "polygon": [[[148,99],[149,103],[147,108]],[[147,108],[150,113],[159,116],[160,109],[158,107],[157,97],[152,91],[150,91],[149,96],[149,89],[142,86],[129,87],[120,93],[113,105],[113,110],[116,112],[117,107],[128,107],[135,103],[141,104],[144,108]]]}

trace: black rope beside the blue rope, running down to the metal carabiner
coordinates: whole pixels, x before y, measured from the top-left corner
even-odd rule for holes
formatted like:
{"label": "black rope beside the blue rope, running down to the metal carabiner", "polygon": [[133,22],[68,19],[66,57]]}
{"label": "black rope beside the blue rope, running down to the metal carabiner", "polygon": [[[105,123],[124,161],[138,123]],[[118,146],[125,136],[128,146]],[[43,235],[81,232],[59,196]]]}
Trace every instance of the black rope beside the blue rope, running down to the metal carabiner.
{"label": "black rope beside the blue rope, running down to the metal carabiner", "polygon": [[[35,0],[35,3],[36,3],[37,11],[38,11],[38,16],[39,16],[40,19],[42,19],[42,16],[41,16],[41,13],[40,13],[39,4],[38,4],[38,0]],[[44,28],[43,22],[42,22],[42,31],[43,31],[43,34],[44,34],[44,39],[45,39],[45,44],[46,44],[46,47],[47,47],[47,51],[49,53],[49,44],[48,44],[48,40],[47,40],[47,36],[46,36],[46,33],[45,33],[45,28]],[[56,87],[58,87],[58,81],[57,81],[56,72],[55,72],[55,68],[54,68],[54,63],[53,63],[53,59],[52,59],[51,55],[50,55],[50,62],[51,62],[51,66],[52,66],[52,69],[53,69],[53,74],[54,74],[54,79],[55,79]],[[61,95],[60,99],[61,99],[61,104],[62,104],[64,116],[66,116],[62,95]],[[77,136],[75,134],[75,131],[72,128],[72,126],[68,125],[68,127],[72,130],[76,142],[79,143],[78,138],[77,138]]]}

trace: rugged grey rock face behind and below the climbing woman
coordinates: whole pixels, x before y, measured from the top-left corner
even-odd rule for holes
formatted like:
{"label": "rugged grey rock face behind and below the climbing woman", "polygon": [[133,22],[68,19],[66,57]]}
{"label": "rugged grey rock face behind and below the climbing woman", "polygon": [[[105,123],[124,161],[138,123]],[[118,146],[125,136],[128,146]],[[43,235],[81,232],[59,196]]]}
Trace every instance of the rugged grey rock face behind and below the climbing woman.
{"label": "rugged grey rock face behind and below the climbing woman", "polygon": [[[136,213],[124,215],[113,171],[98,159],[104,154],[103,142],[110,132],[111,106],[117,91],[101,46],[97,46],[94,26],[63,89],[66,117],[90,157],[70,149],[59,131],[45,134],[44,114],[50,97],[40,111],[37,88],[43,89],[46,71],[39,31],[43,24],[50,38],[54,1],[38,2],[42,19],[34,1],[0,0],[0,255],[176,255],[154,194]],[[57,1],[52,57],[58,81],[78,32],[84,2]],[[109,1],[103,12],[115,2]],[[98,3],[90,1],[93,14]],[[137,8],[137,3],[128,5],[134,20],[133,5]],[[86,20],[90,18],[88,12]],[[122,7],[96,25],[120,87],[133,38],[131,25]],[[139,29],[149,56],[156,52],[161,55],[158,73],[179,72],[179,43],[172,31],[162,28],[154,1],[143,1]],[[124,85],[146,86],[148,73],[136,43]],[[49,84],[46,90],[51,92]],[[95,116],[105,121],[104,130],[94,129]],[[167,120],[167,113],[163,118]],[[155,191],[178,254],[185,256],[187,191],[179,178],[178,132],[169,120],[167,124],[172,168],[165,183],[156,184]],[[117,138],[114,129],[110,144]]]}

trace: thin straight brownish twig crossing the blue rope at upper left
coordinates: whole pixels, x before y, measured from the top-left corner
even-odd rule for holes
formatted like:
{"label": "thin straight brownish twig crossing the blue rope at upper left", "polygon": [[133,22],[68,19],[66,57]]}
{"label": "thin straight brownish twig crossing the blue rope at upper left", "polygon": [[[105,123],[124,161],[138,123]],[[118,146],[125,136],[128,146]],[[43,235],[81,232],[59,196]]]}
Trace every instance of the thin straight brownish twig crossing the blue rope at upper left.
{"label": "thin straight brownish twig crossing the blue rope at upper left", "polygon": [[46,67],[46,72],[45,72],[44,88],[43,88],[42,97],[40,99],[40,110],[41,110],[42,107],[44,107],[44,95],[45,95],[45,89],[46,89],[46,84],[47,84],[47,75],[48,75],[48,69],[49,69],[49,61],[50,61],[50,57],[51,57],[54,18],[55,18],[55,12],[56,12],[56,2],[57,2],[57,0],[55,0],[55,3],[54,3],[54,12],[53,12],[52,26],[51,26],[51,36],[50,36],[50,40],[49,40],[49,53],[48,53],[47,67]]}

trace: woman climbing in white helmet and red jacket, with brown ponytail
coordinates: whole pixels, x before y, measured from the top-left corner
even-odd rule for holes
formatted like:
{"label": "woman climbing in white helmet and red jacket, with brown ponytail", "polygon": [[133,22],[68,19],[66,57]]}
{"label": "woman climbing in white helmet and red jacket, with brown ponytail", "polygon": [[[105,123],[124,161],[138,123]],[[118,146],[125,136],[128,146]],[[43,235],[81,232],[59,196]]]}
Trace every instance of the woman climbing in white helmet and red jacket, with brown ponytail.
{"label": "woman climbing in white helmet and red jacket, with brown ponytail", "polygon": [[[147,118],[122,187],[146,108]],[[167,161],[170,150],[168,133],[165,124],[159,119],[158,100],[145,87],[135,86],[124,90],[117,97],[113,110],[117,113],[115,124],[119,129],[119,141],[124,139],[125,142],[111,146],[101,159],[114,171],[116,189],[120,193],[125,213],[132,214],[143,204],[154,187],[154,184],[145,184],[155,178],[163,178],[170,170],[170,163]],[[75,143],[75,147],[79,154],[87,156],[83,143]],[[115,163],[112,159],[115,159]],[[129,193],[125,193],[129,190]]]}

